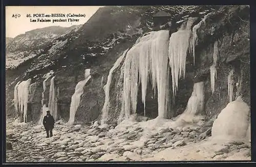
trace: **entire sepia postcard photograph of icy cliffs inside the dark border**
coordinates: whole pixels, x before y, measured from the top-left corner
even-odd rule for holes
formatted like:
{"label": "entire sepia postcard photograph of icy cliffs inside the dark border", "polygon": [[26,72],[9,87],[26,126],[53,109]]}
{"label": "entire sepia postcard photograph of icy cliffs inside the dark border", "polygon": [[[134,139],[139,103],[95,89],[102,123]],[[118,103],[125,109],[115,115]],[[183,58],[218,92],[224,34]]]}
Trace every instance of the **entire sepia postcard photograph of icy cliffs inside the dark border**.
{"label": "entire sepia postcard photograph of icy cliffs inside the dark border", "polygon": [[6,163],[250,161],[250,6],[6,6]]}

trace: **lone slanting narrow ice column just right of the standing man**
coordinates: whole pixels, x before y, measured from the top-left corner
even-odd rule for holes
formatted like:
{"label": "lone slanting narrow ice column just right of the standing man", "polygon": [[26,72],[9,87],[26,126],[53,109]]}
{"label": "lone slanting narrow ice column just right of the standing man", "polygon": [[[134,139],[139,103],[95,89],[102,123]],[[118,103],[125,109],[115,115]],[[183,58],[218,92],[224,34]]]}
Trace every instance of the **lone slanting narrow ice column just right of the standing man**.
{"label": "lone slanting narrow ice column just right of the standing man", "polygon": [[83,87],[86,85],[88,80],[91,78],[90,71],[91,71],[91,69],[84,70],[84,80],[81,80],[77,83],[75,92],[71,97],[70,118],[68,121],[69,125],[73,125],[73,123],[75,121],[76,109],[79,106],[81,95],[83,94]]}

